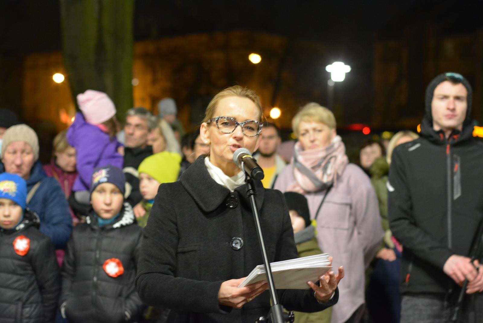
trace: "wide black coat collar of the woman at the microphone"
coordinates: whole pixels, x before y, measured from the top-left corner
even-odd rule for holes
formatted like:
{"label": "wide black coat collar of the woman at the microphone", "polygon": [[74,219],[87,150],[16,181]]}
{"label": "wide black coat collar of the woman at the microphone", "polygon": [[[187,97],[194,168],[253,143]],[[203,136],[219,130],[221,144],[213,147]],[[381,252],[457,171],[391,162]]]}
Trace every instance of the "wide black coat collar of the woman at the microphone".
{"label": "wide black coat collar of the woman at the microphone", "polygon": [[[180,182],[204,212],[213,212],[221,204],[225,204],[225,199],[230,195],[230,191],[216,183],[208,173],[204,161],[205,156],[200,156],[188,169],[183,172]],[[262,208],[265,189],[262,182],[253,180],[255,186],[255,200],[258,210]],[[238,195],[248,205],[250,200],[246,195],[246,184],[235,189]]]}

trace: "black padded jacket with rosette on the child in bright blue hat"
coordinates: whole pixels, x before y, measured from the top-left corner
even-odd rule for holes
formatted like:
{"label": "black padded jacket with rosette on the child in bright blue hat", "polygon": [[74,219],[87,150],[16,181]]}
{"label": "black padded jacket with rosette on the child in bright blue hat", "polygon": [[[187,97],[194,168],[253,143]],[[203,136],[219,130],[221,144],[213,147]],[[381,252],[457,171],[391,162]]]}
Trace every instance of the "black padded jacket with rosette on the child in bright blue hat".
{"label": "black padded jacket with rosette on the child in bright blue hat", "polygon": [[0,229],[0,322],[53,322],[60,269],[52,241],[28,210],[15,229]]}

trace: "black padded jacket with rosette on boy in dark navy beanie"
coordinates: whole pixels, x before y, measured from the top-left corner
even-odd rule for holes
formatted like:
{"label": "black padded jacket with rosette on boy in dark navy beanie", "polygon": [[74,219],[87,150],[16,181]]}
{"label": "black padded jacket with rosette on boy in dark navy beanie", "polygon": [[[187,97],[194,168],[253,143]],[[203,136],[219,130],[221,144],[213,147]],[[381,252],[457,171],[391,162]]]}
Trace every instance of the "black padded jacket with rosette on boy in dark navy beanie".
{"label": "black padded jacket with rosette on boy in dark navy beanie", "polygon": [[99,227],[91,214],[74,227],[59,300],[69,323],[135,322],[141,315],[143,305],[134,286],[141,230],[128,203],[111,225]]}

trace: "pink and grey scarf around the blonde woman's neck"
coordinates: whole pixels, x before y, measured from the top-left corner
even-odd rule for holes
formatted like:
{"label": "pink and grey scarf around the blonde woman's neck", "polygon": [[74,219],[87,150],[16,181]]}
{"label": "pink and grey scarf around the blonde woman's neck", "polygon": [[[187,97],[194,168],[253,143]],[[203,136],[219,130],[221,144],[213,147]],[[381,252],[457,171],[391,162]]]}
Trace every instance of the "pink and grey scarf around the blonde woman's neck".
{"label": "pink and grey scarf around the blonde woman's neck", "polygon": [[337,181],[349,158],[345,154],[345,146],[340,136],[334,137],[332,143],[324,148],[303,150],[300,142],[294,148],[294,177],[287,191],[305,194],[327,189]]}

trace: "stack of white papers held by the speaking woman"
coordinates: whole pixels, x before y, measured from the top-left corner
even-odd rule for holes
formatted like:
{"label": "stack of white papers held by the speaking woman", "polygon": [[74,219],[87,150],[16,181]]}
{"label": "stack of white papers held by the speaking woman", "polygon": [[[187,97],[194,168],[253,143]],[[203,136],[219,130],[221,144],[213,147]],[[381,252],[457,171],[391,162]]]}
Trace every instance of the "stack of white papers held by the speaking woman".
{"label": "stack of white papers held by the speaking woman", "polygon": [[[329,255],[327,253],[313,256],[277,261],[270,263],[276,289],[308,289],[307,281],[318,281],[319,277],[329,271]],[[256,266],[250,275],[238,287],[267,281],[265,266]]]}

